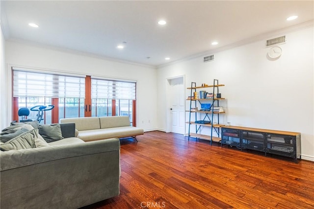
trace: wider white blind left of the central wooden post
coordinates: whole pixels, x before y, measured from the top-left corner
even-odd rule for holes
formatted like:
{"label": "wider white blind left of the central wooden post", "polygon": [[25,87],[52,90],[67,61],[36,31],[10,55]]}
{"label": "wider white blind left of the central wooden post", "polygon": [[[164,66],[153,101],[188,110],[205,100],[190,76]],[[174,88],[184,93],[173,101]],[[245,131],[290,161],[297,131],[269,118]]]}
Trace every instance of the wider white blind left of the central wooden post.
{"label": "wider white blind left of the central wooden post", "polygon": [[13,96],[85,98],[85,78],[13,70]]}

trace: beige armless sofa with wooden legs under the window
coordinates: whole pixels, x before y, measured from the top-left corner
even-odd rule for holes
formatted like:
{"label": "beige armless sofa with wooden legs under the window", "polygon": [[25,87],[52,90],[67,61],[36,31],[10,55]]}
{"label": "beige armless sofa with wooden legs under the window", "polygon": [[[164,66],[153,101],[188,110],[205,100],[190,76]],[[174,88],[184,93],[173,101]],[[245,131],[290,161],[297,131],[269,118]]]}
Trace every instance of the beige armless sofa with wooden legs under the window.
{"label": "beige armless sofa with wooden legs under the window", "polygon": [[142,128],[130,126],[129,116],[62,118],[60,123],[75,123],[77,137],[84,141],[143,135]]}

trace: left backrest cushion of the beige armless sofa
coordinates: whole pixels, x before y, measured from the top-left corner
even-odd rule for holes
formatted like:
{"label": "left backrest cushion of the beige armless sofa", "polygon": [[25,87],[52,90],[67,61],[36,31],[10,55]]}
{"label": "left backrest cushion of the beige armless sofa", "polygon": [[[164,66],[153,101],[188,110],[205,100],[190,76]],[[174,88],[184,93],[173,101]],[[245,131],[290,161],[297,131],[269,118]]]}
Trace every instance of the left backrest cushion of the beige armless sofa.
{"label": "left backrest cushion of the beige armless sofa", "polygon": [[100,129],[98,117],[72,117],[62,118],[60,123],[75,123],[75,128],[78,131]]}

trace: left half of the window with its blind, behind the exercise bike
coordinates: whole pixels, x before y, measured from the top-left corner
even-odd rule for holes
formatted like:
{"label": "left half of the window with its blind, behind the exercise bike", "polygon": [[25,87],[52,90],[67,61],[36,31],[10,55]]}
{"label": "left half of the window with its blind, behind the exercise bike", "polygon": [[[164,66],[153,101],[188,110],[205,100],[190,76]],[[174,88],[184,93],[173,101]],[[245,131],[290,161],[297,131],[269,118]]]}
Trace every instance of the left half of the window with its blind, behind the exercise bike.
{"label": "left half of the window with its blind, behind the exercise bike", "polygon": [[[60,118],[84,116],[85,78],[13,69],[15,109],[54,105],[44,112],[41,123],[57,123]],[[36,108],[37,109],[37,108]],[[56,118],[52,117],[57,115]],[[28,118],[36,119],[37,111]],[[18,118],[13,117],[14,120]]]}

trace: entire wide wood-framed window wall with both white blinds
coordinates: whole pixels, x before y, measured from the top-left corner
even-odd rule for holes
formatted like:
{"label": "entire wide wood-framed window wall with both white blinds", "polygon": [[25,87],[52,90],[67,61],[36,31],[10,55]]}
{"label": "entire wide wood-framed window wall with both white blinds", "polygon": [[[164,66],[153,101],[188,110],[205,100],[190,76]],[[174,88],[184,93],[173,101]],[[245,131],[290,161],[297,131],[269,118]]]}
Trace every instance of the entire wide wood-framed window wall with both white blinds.
{"label": "entire wide wood-framed window wall with both white blinds", "polygon": [[[41,123],[84,116],[129,116],[136,126],[135,81],[113,81],[99,77],[56,74],[13,68],[13,120],[18,110],[36,105],[54,105],[44,112]],[[28,118],[36,119],[31,111]]]}

